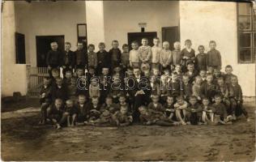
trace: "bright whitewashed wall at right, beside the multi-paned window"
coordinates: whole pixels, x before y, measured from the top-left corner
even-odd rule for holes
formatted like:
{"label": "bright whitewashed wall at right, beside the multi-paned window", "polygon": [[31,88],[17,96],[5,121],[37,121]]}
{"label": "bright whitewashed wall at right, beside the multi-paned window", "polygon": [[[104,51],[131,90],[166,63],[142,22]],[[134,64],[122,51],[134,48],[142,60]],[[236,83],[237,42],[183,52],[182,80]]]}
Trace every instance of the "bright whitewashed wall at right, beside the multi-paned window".
{"label": "bright whitewashed wall at right, beside the multi-paned window", "polygon": [[224,66],[233,66],[244,96],[255,96],[255,64],[237,62],[237,4],[235,2],[180,2],[181,45],[192,40],[198,53],[198,45],[208,50],[208,42],[215,40]]}

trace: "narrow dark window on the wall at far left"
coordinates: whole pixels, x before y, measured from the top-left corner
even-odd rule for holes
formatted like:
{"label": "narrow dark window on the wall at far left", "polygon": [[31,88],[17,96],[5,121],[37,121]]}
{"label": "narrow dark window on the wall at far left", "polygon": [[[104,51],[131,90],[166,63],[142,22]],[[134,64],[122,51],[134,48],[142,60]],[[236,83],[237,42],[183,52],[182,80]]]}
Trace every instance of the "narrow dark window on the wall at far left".
{"label": "narrow dark window on the wall at far left", "polygon": [[15,32],[15,49],[16,49],[16,63],[25,64],[26,63],[25,35],[19,32]]}

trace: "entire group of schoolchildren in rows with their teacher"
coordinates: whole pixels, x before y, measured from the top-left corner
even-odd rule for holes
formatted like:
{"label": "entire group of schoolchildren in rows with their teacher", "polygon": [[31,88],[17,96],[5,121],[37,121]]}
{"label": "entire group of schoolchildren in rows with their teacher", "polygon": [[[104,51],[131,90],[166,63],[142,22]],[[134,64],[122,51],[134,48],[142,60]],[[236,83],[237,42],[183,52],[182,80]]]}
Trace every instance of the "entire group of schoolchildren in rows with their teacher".
{"label": "entire group of schoolchildren in rows with their teacher", "polygon": [[[47,55],[49,77],[41,89],[41,121],[62,126],[176,126],[199,124],[230,124],[244,114],[242,91],[233,67],[221,69],[221,55],[211,40],[205,53],[198,46],[195,55],[191,40],[181,50],[175,42],[160,46],[159,38],[149,46],[147,38],[107,52],[105,44],[88,45],[78,42],[75,52],[70,43],[65,51],[51,43]],[[60,78],[62,67],[63,79]]]}

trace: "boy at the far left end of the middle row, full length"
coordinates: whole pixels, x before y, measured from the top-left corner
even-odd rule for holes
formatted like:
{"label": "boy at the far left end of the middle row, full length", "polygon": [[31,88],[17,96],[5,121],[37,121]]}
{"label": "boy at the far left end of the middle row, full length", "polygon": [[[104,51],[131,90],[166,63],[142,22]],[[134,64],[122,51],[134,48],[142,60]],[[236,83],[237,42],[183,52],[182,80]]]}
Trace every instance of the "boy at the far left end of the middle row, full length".
{"label": "boy at the far left end of the middle row, full length", "polygon": [[44,78],[44,85],[41,87],[40,92],[40,104],[41,104],[41,120],[39,124],[44,125],[46,122],[47,117],[47,108],[49,107],[49,104],[51,103],[51,86],[50,86],[51,79],[49,77]]}

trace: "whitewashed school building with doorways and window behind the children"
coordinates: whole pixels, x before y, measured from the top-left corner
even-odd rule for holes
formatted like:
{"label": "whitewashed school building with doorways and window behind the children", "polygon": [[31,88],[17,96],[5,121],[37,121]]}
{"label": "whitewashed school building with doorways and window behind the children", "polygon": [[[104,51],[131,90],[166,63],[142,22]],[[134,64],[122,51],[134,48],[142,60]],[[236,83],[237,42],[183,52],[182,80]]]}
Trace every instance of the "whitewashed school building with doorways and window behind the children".
{"label": "whitewashed school building with doorways and window behind the children", "polygon": [[[215,40],[222,64],[233,66],[244,96],[255,96],[256,16],[253,5],[208,1],[6,1],[2,2],[2,96],[28,93],[28,68],[45,66],[49,42],[78,40],[120,46],[152,36],[192,40],[208,49]],[[39,71],[39,70],[38,70]],[[38,83],[40,84],[40,83]]]}

